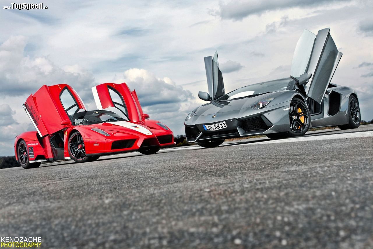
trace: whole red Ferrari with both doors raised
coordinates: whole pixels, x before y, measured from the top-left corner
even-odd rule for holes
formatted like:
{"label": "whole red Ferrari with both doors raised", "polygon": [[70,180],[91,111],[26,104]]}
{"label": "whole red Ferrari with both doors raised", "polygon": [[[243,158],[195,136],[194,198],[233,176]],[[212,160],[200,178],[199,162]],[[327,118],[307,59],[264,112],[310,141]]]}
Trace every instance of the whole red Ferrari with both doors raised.
{"label": "whole red Ferrari with both doors raised", "polygon": [[42,86],[23,104],[36,131],[16,136],[16,159],[25,168],[41,162],[97,160],[101,155],[139,151],[153,154],[174,144],[173,133],[142,112],[135,91],[125,84],[92,88],[97,111],[87,111],[67,84]]}

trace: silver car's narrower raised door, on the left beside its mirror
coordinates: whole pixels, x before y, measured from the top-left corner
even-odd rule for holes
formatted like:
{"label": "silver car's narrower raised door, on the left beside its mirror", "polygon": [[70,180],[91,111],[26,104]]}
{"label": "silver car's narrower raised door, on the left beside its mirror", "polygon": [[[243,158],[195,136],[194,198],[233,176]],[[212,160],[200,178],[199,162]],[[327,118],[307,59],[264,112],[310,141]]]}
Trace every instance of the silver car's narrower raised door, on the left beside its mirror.
{"label": "silver car's narrower raised door, on the left beside its mirror", "polygon": [[214,56],[204,58],[207,86],[209,87],[209,94],[214,101],[215,99],[225,95],[224,82],[222,72],[219,70],[219,61],[217,58],[217,51]]}

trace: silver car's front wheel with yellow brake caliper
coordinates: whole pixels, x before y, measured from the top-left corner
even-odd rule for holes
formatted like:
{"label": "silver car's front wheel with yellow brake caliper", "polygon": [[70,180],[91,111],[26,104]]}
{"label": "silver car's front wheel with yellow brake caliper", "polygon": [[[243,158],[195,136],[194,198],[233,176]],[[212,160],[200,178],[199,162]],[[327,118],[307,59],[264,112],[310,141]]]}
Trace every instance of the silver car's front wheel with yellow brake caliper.
{"label": "silver car's front wheel with yellow brake caliper", "polygon": [[311,124],[310,110],[302,99],[293,98],[289,108],[289,132],[288,136],[303,136]]}

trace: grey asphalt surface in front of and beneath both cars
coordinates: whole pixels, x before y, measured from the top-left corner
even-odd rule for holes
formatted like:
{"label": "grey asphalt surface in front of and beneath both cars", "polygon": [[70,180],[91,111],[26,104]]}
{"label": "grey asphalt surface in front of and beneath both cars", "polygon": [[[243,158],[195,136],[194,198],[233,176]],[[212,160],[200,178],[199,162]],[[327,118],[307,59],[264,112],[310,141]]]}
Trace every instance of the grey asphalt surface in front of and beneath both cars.
{"label": "grey asphalt surface in front of and beneath both cars", "polygon": [[0,170],[0,236],[54,248],[373,248],[373,125]]}

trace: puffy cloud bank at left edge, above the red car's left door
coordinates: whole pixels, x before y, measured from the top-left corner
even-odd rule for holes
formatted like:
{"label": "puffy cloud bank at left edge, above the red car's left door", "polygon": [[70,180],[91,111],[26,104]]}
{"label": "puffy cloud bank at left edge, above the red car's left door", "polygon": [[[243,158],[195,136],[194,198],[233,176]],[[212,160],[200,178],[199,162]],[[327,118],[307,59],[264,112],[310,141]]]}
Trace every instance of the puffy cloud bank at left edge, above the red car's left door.
{"label": "puffy cloud bank at left edge, above the red car's left door", "polygon": [[93,86],[91,73],[81,68],[79,71],[76,65],[61,68],[46,56],[24,56],[25,46],[24,36],[12,36],[0,46],[1,95],[29,95],[44,84],[66,83],[76,90],[87,90]]}

